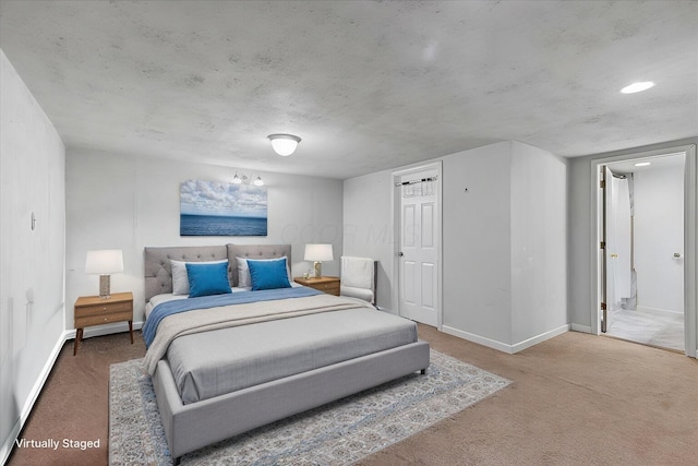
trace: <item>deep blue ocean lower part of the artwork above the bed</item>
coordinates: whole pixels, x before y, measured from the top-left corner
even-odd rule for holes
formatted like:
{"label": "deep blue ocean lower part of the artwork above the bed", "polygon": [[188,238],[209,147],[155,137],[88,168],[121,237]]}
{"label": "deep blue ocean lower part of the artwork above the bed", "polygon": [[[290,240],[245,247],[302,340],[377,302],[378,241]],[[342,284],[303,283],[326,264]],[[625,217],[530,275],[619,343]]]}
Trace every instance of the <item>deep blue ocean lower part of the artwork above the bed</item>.
{"label": "deep blue ocean lower part of the artwork above the bed", "polygon": [[181,214],[180,236],[266,236],[266,218]]}

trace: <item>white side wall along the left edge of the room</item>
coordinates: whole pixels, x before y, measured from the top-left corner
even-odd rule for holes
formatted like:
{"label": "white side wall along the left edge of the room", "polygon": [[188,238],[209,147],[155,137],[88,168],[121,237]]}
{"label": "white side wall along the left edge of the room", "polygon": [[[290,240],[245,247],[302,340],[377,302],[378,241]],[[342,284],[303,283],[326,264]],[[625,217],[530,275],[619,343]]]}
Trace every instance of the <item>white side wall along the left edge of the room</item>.
{"label": "white side wall along the left edge of the room", "polygon": [[63,345],[65,150],[1,50],[0,101],[3,463]]}

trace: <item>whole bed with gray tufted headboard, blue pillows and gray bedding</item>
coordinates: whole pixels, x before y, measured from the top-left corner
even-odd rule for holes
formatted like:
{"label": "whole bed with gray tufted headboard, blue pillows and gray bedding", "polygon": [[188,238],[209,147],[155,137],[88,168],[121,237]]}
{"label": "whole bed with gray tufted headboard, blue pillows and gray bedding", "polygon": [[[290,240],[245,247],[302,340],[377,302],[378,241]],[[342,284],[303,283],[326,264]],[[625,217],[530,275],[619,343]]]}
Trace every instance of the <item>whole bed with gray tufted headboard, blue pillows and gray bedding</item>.
{"label": "whole bed with gray tufted headboard, blue pillows and gray bedding", "polygon": [[[249,290],[248,272],[260,277],[280,263],[292,283],[290,258],[289,244],[145,248],[145,366],[174,464],[429,367],[429,344],[418,339],[416,324],[368,302],[298,286]],[[181,263],[189,263],[190,282],[204,268],[225,274],[231,292],[176,295]],[[225,265],[210,265],[217,263]],[[195,296],[200,286],[191,283]]]}

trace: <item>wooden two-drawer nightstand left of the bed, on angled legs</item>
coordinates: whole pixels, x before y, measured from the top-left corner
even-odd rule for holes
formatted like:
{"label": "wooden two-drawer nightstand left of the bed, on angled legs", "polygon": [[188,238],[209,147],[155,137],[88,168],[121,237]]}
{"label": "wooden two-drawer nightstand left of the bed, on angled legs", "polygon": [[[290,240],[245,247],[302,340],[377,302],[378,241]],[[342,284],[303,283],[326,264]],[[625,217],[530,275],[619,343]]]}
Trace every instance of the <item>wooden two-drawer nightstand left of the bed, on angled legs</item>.
{"label": "wooden two-drawer nightstand left of the bed, on angled legs", "polygon": [[83,296],[75,301],[75,346],[73,356],[77,354],[77,344],[83,340],[83,328],[111,322],[129,322],[131,345],[133,345],[133,294],[115,292],[111,298]]}

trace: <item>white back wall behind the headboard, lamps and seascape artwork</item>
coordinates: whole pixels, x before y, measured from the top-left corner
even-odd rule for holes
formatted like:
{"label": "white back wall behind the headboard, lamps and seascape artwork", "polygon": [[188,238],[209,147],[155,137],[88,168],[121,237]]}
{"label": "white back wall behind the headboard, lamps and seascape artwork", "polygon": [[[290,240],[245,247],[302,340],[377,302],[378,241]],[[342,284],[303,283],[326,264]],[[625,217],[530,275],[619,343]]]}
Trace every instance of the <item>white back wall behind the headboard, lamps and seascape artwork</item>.
{"label": "white back wall behind the headboard, lamps and seascape artwork", "polygon": [[[69,150],[67,328],[73,328],[75,299],[98,292],[98,277],[84,273],[89,249],[123,250],[124,272],[111,276],[111,290],[133,291],[134,322],[143,320],[146,246],[290,243],[293,275],[300,276],[311,267],[303,262],[305,243],[329,242],[334,246],[335,261],[323,263],[323,273],[339,274],[342,240],[339,180],[262,172],[268,188],[268,236],[180,237],[180,183],[188,179],[230,181],[234,174],[233,168],[213,165]],[[119,327],[125,328],[125,324],[112,325],[109,331]],[[97,333],[99,327],[85,330],[87,336]]]}

